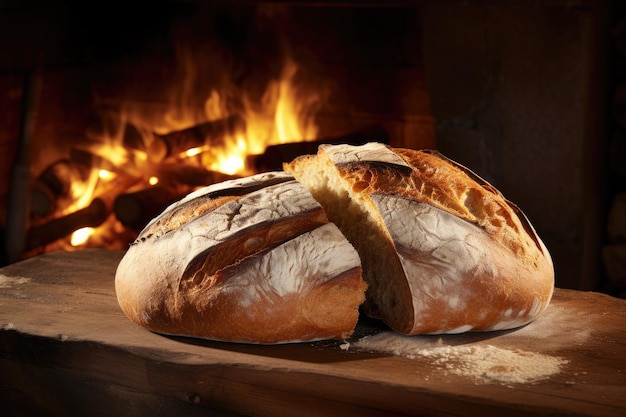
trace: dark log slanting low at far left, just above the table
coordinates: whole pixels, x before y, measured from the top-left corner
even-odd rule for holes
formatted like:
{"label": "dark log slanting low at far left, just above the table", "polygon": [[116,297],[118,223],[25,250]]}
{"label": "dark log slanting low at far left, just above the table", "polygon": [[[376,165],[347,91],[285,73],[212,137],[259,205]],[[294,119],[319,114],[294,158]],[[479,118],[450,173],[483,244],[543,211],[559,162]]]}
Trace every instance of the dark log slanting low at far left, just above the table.
{"label": "dark log slanting low at far left, just above the table", "polygon": [[31,227],[26,237],[25,250],[30,251],[69,236],[83,227],[97,227],[109,216],[107,205],[99,198],[71,214]]}

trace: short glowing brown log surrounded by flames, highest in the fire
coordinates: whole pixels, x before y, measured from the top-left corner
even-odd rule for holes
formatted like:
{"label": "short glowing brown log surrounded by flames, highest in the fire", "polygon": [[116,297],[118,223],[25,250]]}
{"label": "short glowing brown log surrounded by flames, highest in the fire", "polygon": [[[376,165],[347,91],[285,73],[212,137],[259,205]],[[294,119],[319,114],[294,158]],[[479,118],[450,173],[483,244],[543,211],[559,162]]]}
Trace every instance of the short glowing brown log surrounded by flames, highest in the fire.
{"label": "short glowing brown log surrounded by flames, highest in the fire", "polygon": [[219,146],[227,137],[244,131],[245,121],[240,116],[234,115],[166,135],[155,134],[148,148],[148,155],[155,161],[162,161],[207,143]]}

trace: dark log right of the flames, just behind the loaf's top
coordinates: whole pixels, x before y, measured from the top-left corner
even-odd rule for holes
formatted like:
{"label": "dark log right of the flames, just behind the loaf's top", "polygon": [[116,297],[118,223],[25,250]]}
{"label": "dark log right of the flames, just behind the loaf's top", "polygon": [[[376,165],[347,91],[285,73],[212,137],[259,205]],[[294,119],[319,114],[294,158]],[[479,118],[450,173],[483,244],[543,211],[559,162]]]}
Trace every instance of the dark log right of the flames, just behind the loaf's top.
{"label": "dark log right of the flames, just behind the loaf's top", "polygon": [[381,126],[370,126],[336,137],[272,145],[261,155],[250,155],[247,162],[257,172],[276,171],[282,170],[283,162],[290,162],[300,155],[317,153],[317,147],[321,144],[362,145],[367,142],[389,143],[387,131]]}

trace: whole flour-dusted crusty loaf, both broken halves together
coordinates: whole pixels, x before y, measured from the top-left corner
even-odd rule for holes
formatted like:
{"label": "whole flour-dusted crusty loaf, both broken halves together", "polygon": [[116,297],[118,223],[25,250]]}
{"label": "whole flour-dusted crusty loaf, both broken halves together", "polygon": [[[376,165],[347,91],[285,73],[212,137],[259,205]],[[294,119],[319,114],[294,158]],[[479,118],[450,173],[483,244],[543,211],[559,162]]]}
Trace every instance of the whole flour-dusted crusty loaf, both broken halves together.
{"label": "whole flour-dusted crusty loaf, both broken halves together", "polygon": [[152,331],[287,343],[346,339],[361,312],[406,335],[520,327],[549,304],[554,269],[474,173],[368,143],[189,194],[142,230],[115,285]]}

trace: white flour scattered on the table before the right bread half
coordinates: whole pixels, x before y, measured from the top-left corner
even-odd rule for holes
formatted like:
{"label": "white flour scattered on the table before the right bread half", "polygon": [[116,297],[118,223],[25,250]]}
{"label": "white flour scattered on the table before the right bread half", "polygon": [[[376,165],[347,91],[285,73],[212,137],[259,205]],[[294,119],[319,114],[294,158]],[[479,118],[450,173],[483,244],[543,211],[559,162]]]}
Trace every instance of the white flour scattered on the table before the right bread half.
{"label": "white flour scattered on the table before the right bread half", "polygon": [[559,373],[568,361],[542,353],[509,350],[492,345],[443,345],[439,339],[383,332],[352,343],[359,350],[386,352],[407,358],[427,358],[446,374],[473,378],[477,383],[529,383]]}

